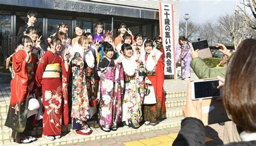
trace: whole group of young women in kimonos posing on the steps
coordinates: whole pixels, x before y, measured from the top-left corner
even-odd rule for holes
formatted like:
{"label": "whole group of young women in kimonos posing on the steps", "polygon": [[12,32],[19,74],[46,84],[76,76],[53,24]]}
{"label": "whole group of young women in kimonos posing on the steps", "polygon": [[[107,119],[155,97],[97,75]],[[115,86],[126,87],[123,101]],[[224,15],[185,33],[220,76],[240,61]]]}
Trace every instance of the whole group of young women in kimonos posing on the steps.
{"label": "whole group of young women in kimonos posing on the steps", "polygon": [[[77,134],[90,135],[87,121],[96,107],[104,132],[119,126],[139,128],[142,121],[152,126],[159,123],[166,112],[163,47],[155,47],[152,40],[143,42],[141,34],[133,36],[123,23],[116,39],[109,31],[103,33],[102,23],[96,24],[94,36],[76,26],[77,36],[72,40],[66,23],[58,28],[47,39],[49,47],[42,48],[37,29],[30,26],[36,39],[25,35],[12,55],[11,101],[5,125],[13,129],[15,142],[36,140],[30,135],[35,118],[43,119],[42,136],[47,140],[60,138],[62,125],[68,125],[70,118]],[[143,104],[147,86],[153,86],[156,104]],[[38,96],[41,91],[42,99]]]}

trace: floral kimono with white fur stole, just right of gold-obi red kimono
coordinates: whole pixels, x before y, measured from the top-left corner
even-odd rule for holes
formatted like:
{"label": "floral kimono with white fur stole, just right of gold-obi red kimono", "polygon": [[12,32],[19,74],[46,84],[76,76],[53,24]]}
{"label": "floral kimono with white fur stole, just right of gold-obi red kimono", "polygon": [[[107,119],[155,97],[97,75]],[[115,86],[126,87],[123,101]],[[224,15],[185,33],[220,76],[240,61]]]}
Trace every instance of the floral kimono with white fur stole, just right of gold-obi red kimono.
{"label": "floral kimono with white fur stole, just right of gold-obi red kimono", "polygon": [[89,98],[92,98],[92,79],[95,57],[91,50],[84,53],[82,47],[75,45],[73,55],[69,61],[72,67],[72,127],[73,129],[86,129],[86,121],[90,119]]}

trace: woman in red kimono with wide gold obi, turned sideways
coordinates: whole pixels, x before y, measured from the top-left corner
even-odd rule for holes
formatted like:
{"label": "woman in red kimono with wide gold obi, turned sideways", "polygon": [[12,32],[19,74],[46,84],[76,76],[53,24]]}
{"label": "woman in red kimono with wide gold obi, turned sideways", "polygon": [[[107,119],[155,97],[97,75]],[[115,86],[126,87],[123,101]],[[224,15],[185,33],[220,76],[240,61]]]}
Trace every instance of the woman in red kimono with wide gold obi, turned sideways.
{"label": "woman in red kimono with wide gold obi, turned sideways", "polygon": [[62,114],[64,125],[68,125],[69,121],[67,92],[69,51],[67,50],[62,58],[57,54],[62,49],[61,40],[51,37],[48,43],[51,49],[46,51],[39,61],[36,84],[42,87],[43,136],[48,140],[55,140],[60,138],[62,133]]}

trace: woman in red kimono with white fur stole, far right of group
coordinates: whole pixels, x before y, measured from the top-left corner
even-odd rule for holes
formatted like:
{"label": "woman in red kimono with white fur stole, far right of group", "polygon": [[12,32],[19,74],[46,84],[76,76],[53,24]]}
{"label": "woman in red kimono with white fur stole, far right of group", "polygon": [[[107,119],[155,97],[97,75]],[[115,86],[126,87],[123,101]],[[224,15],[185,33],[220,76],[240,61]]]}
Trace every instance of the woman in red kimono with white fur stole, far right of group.
{"label": "woman in red kimono with white fur stole, far right of group", "polygon": [[161,116],[166,113],[165,100],[164,100],[164,62],[162,53],[153,48],[153,42],[146,40],[144,43],[145,50],[141,50],[140,61],[146,66],[145,82],[149,80],[151,86],[154,87],[156,94],[156,104],[144,105],[144,120],[145,125],[156,126],[161,119]]}

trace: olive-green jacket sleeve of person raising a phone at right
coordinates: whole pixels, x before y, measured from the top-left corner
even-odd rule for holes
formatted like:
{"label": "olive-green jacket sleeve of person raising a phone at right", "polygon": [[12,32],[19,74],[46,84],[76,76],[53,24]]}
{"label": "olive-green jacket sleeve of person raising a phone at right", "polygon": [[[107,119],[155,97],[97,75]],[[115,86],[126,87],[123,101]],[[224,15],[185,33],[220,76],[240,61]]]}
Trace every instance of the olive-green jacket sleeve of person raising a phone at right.
{"label": "olive-green jacket sleeve of person raising a phone at right", "polygon": [[200,57],[194,58],[190,63],[190,67],[193,69],[198,78],[215,78],[217,76],[225,77],[227,71],[227,67],[207,67],[205,62]]}

